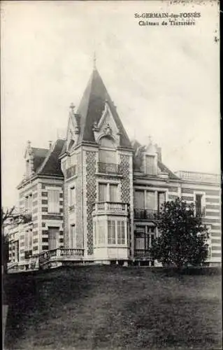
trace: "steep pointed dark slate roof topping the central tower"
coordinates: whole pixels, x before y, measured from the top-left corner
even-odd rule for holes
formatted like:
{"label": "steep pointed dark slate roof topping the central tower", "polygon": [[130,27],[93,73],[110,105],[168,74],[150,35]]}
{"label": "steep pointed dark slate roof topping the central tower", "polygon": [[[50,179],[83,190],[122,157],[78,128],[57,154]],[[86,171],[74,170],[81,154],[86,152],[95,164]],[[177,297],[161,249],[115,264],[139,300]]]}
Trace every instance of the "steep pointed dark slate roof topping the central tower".
{"label": "steep pointed dark slate roof topping the central tower", "polygon": [[121,132],[120,146],[131,147],[127,132],[124,130],[113,101],[110,99],[106,86],[97,69],[93,70],[77,111],[77,113],[80,114],[80,134],[78,143],[82,141],[95,142],[92,128],[94,123],[99,123],[106,101],[113,114],[115,123]]}

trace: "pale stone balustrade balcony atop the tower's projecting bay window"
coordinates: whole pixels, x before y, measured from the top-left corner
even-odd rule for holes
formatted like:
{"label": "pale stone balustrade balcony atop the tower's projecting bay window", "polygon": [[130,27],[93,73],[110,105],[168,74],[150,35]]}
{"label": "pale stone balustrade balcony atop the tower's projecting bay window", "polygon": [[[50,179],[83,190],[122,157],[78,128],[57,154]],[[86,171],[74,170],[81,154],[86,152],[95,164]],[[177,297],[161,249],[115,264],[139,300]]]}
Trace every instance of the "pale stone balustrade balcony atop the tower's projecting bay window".
{"label": "pale stone balustrade balcony atop the tower's projecting bay window", "polygon": [[94,204],[93,215],[117,214],[128,215],[128,204],[120,202],[98,202]]}

